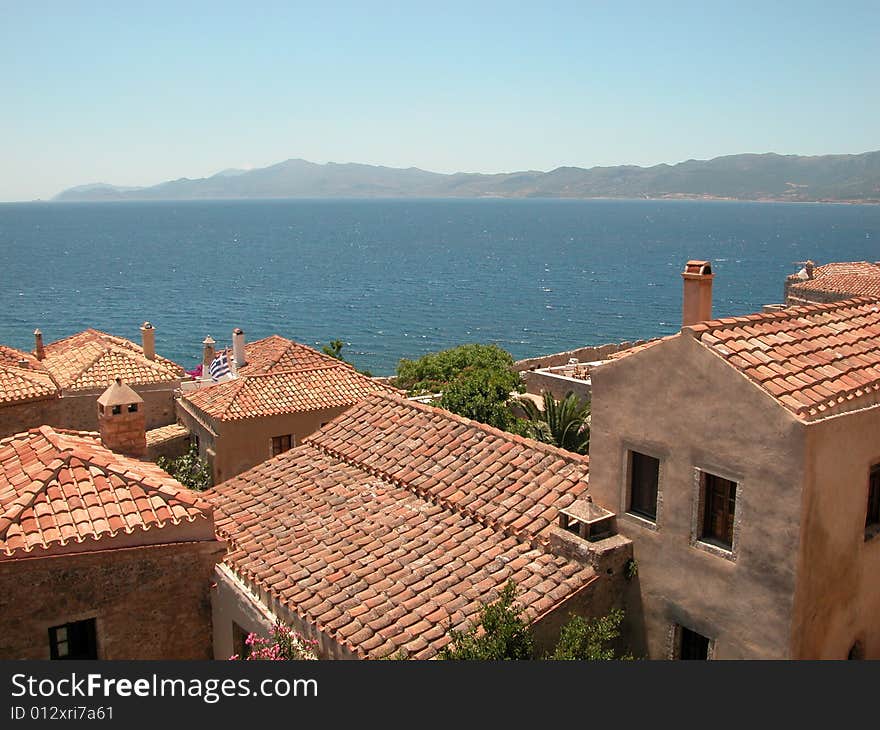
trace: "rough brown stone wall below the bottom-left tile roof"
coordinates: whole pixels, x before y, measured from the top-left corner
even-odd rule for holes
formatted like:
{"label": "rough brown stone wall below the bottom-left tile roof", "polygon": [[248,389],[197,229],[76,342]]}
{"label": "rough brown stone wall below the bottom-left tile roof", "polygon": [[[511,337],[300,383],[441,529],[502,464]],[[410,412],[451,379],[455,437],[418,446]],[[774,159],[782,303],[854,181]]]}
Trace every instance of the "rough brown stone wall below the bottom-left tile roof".
{"label": "rough brown stone wall below the bottom-left tile roof", "polygon": [[215,540],[0,560],[0,659],[48,659],[49,628],[96,619],[100,659],[210,659]]}

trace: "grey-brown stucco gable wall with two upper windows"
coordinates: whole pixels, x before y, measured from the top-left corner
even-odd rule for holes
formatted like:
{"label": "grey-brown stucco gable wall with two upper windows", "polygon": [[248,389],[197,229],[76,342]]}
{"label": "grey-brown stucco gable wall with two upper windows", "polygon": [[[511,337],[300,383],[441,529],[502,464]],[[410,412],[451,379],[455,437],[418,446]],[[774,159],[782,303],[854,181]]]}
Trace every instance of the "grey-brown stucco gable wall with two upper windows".
{"label": "grey-brown stucco gable wall with two upper windows", "polygon": [[[634,543],[635,651],[669,656],[680,624],[715,640],[715,658],[788,657],[802,426],[689,336],[599,366],[592,380],[590,492]],[[626,513],[630,449],[660,459],[656,524]],[[697,468],[738,483],[735,560],[692,540]]]}

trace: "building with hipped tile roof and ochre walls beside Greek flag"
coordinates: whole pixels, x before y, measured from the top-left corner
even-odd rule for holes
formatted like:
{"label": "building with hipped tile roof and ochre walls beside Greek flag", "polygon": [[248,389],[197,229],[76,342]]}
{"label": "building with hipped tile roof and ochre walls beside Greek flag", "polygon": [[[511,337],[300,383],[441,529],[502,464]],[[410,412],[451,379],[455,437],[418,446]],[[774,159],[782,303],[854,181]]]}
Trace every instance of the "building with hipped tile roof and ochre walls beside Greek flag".
{"label": "building with hipped tile roof and ochre walls beside Greek flag", "polygon": [[245,344],[239,330],[236,338],[235,377],[184,392],[177,404],[215,484],[293,448],[371,393],[398,392],[284,337]]}

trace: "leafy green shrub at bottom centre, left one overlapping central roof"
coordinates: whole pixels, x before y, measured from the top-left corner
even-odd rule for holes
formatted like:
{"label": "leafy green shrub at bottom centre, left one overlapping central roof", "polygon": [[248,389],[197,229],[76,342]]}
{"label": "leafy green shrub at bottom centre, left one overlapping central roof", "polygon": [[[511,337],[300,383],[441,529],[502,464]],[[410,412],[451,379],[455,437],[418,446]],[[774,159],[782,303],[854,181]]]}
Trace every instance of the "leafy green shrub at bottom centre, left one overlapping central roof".
{"label": "leafy green shrub at bottom centre, left one overlapping central roof", "polygon": [[516,584],[508,581],[498,600],[480,609],[478,623],[472,623],[464,631],[450,627],[451,642],[440,650],[440,658],[531,659],[532,634],[522,617],[522,607],[515,603],[515,596]]}

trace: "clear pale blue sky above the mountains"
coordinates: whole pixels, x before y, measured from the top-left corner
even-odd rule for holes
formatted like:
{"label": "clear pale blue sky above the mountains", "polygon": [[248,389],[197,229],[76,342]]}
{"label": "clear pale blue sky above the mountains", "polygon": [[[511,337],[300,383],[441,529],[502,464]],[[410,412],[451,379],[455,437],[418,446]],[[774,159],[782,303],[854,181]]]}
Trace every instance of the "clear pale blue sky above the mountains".
{"label": "clear pale blue sky above the mountains", "polygon": [[880,4],[0,0],[0,200],[880,149]]}

